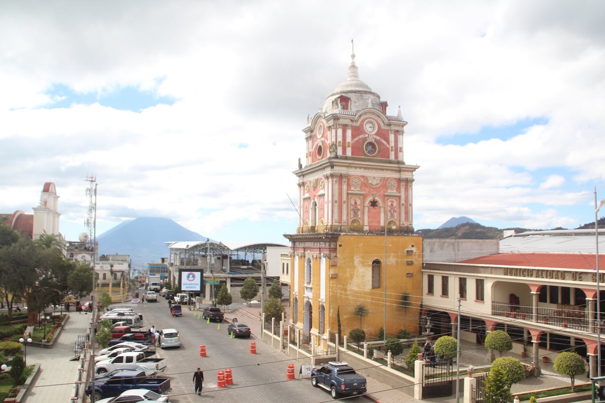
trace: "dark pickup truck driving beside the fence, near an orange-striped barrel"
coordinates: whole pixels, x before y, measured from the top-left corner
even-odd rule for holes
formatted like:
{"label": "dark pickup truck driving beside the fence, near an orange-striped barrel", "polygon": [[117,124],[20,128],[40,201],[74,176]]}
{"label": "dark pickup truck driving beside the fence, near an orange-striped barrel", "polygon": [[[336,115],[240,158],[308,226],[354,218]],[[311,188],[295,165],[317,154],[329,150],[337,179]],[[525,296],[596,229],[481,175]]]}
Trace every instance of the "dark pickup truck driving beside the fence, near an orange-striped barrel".
{"label": "dark pickup truck driving beside the fence, near an orange-striped barrel", "polygon": [[329,390],[332,399],[362,395],[366,392],[365,378],[344,361],[330,361],[311,372],[311,384]]}

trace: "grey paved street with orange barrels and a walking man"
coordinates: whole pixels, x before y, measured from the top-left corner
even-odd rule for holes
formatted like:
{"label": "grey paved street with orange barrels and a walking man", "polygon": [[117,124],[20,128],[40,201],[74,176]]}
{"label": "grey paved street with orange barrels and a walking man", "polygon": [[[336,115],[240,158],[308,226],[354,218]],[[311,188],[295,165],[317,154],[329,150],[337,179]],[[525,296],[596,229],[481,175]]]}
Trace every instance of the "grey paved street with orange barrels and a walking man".
{"label": "grey paved street with orange barrels and a walking man", "polygon": [[[163,298],[157,303],[137,305],[137,311],[143,314],[145,329],[155,325],[157,329],[175,327],[181,335],[180,349],[159,350],[158,355],[166,357],[168,367],[165,375],[172,378],[171,401],[177,403],[197,402],[212,399],[218,402],[265,402],[267,399],[296,402],[331,402],[329,393],[313,388],[308,379],[286,380],[287,364],[295,364],[287,355],[250,338],[230,338],[227,323],[220,324],[198,319],[194,311],[186,307],[183,317],[172,317],[168,304]],[[229,315],[228,317],[231,317]],[[240,317],[239,321],[249,321]],[[251,323],[249,323],[251,324]],[[250,341],[256,341],[257,354],[250,354]],[[200,344],[206,345],[206,358],[200,358]],[[192,374],[197,367],[204,371],[204,391],[202,396],[194,395]],[[231,368],[234,384],[226,388],[217,387],[217,372]],[[172,397],[174,396],[174,398]],[[347,399],[363,401],[364,398]]]}

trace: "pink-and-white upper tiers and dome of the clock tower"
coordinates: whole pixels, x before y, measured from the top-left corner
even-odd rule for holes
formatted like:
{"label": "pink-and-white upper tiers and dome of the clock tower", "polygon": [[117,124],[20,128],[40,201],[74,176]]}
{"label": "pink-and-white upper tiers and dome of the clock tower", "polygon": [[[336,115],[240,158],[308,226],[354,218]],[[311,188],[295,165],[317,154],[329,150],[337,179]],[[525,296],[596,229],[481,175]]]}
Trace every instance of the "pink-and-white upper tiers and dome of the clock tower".
{"label": "pink-and-white upper tiers and dome of the clock tower", "polygon": [[303,129],[304,166],[298,170],[296,233],[413,233],[413,173],[404,162],[401,108],[359,79],[355,53],[347,79]]}

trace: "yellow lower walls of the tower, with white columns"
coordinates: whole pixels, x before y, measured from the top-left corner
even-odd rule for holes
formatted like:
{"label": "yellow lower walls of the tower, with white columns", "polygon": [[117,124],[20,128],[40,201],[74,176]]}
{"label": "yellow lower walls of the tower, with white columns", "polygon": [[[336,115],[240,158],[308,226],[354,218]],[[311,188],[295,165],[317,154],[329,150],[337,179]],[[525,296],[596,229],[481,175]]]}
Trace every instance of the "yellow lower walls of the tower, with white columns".
{"label": "yellow lower walls of the tower, with white columns", "polygon": [[[413,251],[408,254],[407,251]],[[361,320],[361,328],[368,338],[377,337],[379,328],[384,326],[385,312],[385,237],[379,234],[341,234],[338,239],[336,256],[326,259],[325,269],[325,298],[320,298],[319,264],[321,254],[307,251],[304,256],[295,254],[292,259],[298,259],[298,320],[304,325],[305,300],[313,306],[311,334],[318,334],[319,306],[325,306],[325,329],[338,332],[337,310],[340,308],[342,333],[348,335],[349,330],[360,327],[359,317],[355,315],[358,305],[367,307],[368,315]],[[306,257],[312,259],[313,279],[312,297],[304,297],[304,274]],[[371,288],[371,265],[374,259],[381,261],[381,286]],[[292,260],[292,282],[294,263]],[[410,262],[411,264],[408,264]],[[418,329],[420,294],[422,291],[422,237],[407,235],[387,236],[387,337],[394,337],[399,330],[407,329],[415,334]],[[293,301],[294,287],[292,286]],[[401,294],[410,294],[410,307],[401,307]],[[292,309],[295,305],[292,304]],[[293,312],[292,312],[293,314]],[[290,316],[294,318],[294,315]]]}

